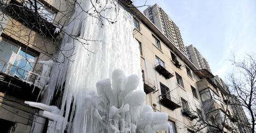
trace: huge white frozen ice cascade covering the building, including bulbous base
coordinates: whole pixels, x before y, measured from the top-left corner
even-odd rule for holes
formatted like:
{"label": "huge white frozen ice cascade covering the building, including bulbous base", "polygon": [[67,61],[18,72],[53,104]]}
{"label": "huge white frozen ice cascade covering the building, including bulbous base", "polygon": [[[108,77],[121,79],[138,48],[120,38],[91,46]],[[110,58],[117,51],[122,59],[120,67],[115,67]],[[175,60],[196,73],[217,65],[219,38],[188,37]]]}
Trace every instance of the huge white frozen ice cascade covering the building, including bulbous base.
{"label": "huge white frozen ice cascade covering the building, including bulbous base", "polygon": [[[44,110],[41,115],[53,120],[48,123],[48,132],[153,133],[167,130],[168,115],[154,112],[150,105],[144,104],[146,95],[143,82],[139,82],[142,81],[141,56],[138,42],[132,35],[132,16],[117,3],[97,2],[93,3],[96,10],[107,7],[101,15],[117,22],[112,24],[102,19],[102,26],[99,19],[81,13],[92,9],[91,1],[78,0],[80,5],[76,5],[66,32],[80,37],[73,39],[64,35],[63,51],[57,55],[63,63],[52,66],[43,104],[26,103]],[[82,44],[88,38],[99,42]],[[64,91],[59,109],[48,106],[56,91]],[[40,117],[34,121],[44,123]],[[33,123],[32,132],[40,132],[42,127]]]}

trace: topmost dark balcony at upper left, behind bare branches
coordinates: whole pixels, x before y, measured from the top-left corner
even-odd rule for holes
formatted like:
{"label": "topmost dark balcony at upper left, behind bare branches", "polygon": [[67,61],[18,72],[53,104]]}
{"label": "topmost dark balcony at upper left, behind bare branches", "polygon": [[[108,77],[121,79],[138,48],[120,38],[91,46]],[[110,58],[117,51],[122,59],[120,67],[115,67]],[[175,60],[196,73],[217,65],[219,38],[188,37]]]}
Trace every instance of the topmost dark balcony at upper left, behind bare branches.
{"label": "topmost dark balcony at upper left, behind bare branches", "polygon": [[49,8],[39,1],[36,1],[36,6],[38,9],[35,9],[35,1],[33,0],[31,2],[11,0],[3,8],[8,15],[17,19],[17,21],[23,23],[28,28],[33,28],[33,30],[43,32],[46,36],[52,37],[57,28],[53,24],[57,9]]}

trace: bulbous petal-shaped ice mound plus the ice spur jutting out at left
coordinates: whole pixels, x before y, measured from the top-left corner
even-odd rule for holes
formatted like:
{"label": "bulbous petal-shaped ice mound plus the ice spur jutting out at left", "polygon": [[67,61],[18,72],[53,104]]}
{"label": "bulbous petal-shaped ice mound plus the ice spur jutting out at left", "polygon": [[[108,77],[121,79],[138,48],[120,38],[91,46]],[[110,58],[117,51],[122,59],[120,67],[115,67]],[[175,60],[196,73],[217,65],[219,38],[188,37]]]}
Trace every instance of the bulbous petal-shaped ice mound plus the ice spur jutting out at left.
{"label": "bulbous petal-shaped ice mound plus the ice spur jutting out at left", "polygon": [[[154,132],[168,129],[168,114],[154,112],[150,105],[144,104],[145,92],[137,90],[137,75],[126,77],[123,70],[117,69],[111,79],[96,83],[96,90],[83,96],[83,128],[71,132]],[[42,103],[25,102],[32,107],[45,110],[42,115],[51,118],[57,130],[65,123],[59,109]],[[82,114],[75,114],[81,117]],[[78,127],[72,123],[72,127]]]}

